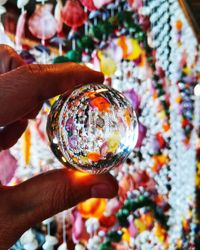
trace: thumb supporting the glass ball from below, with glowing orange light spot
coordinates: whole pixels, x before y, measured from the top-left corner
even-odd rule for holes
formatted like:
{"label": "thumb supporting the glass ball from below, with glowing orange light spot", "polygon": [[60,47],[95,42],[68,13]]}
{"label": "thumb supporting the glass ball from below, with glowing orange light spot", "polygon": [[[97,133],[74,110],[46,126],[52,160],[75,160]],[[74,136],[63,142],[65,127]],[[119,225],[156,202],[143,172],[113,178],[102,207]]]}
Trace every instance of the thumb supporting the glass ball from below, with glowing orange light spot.
{"label": "thumb supporting the glass ball from below, with glowing orange light spot", "polygon": [[12,213],[9,232],[14,232],[17,240],[25,230],[62,210],[92,197],[112,198],[117,191],[118,184],[110,174],[49,171],[5,190],[6,210],[10,208]]}

